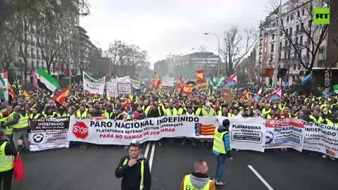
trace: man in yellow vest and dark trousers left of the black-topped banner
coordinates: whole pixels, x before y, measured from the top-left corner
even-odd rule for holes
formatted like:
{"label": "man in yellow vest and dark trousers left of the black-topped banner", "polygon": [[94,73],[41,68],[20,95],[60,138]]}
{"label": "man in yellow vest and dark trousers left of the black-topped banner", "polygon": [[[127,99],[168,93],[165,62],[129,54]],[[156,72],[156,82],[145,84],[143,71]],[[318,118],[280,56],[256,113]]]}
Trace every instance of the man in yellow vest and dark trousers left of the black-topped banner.
{"label": "man in yellow vest and dark trousers left of the black-topped banner", "polygon": [[13,127],[13,143],[15,148],[18,148],[18,139],[23,137],[23,142],[25,148],[29,150],[28,145],[28,114],[25,110],[21,109],[21,106],[15,106],[15,113],[13,118],[10,118],[8,122],[4,122],[3,127],[12,126]]}

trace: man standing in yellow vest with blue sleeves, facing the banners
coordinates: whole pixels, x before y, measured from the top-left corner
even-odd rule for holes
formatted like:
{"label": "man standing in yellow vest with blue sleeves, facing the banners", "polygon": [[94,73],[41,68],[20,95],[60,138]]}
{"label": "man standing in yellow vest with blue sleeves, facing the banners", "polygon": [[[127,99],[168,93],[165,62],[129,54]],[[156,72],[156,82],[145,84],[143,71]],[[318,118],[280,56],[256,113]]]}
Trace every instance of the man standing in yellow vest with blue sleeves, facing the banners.
{"label": "man standing in yellow vest with blue sleeves, facing the banners", "polygon": [[223,120],[223,125],[215,129],[215,137],[213,139],[213,153],[217,156],[215,165],[215,184],[224,185],[225,160],[231,157],[230,146],[230,121]]}

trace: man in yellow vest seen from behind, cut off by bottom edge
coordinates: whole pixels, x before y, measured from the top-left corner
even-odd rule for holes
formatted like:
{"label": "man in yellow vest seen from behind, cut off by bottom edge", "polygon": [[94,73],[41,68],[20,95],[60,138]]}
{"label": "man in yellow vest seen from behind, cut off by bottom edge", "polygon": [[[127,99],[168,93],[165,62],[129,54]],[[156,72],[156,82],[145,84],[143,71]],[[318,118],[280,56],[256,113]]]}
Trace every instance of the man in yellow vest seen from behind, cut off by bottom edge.
{"label": "man in yellow vest seen from behind, cut off by bottom edge", "polygon": [[180,190],[201,189],[215,190],[215,182],[209,179],[208,165],[205,160],[199,159],[194,163],[195,172],[183,177]]}

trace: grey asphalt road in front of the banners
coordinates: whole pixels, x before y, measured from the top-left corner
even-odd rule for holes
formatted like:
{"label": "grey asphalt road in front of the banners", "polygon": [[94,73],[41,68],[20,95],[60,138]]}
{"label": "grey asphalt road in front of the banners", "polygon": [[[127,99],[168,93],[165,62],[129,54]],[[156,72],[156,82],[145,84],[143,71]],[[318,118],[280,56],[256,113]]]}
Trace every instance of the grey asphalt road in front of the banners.
{"label": "grey asphalt road in front of the banners", "polygon": [[[210,146],[180,145],[180,142],[149,146],[152,189],[180,189],[182,177],[193,170],[196,158],[207,160],[209,175],[213,176],[215,157]],[[115,167],[127,151],[123,146],[101,148],[58,149],[23,153],[25,181],[21,189],[120,189]],[[152,155],[152,156],[151,156]],[[265,153],[233,151],[234,161],[227,160],[225,186],[218,189],[268,189],[248,167],[251,165],[270,189],[337,189],[338,162],[296,151]]]}

